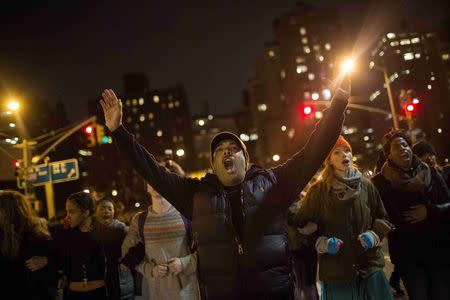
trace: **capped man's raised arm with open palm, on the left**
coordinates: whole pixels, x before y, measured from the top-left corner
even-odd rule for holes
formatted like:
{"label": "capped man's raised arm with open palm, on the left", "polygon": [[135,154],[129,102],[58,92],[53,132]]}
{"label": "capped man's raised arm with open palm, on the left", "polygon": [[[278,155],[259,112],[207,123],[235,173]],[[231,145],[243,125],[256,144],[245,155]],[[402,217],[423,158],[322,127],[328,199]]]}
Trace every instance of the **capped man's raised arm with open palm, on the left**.
{"label": "capped man's raised arm with open palm, on the left", "polygon": [[105,123],[111,131],[122,157],[125,157],[144,180],[182,215],[191,219],[193,195],[198,180],[180,177],[160,166],[155,157],[122,126],[122,103],[114,92],[105,90],[102,96],[101,105]]}

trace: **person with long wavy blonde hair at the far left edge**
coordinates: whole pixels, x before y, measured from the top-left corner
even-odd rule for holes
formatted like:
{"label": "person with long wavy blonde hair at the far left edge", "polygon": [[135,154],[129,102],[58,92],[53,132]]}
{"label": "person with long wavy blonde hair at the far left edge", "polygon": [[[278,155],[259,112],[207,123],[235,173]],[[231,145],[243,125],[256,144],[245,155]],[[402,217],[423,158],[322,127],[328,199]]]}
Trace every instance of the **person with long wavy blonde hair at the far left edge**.
{"label": "person with long wavy blonde hair at the far left edge", "polygon": [[48,290],[46,224],[25,196],[0,191],[0,290],[5,299],[52,299]]}

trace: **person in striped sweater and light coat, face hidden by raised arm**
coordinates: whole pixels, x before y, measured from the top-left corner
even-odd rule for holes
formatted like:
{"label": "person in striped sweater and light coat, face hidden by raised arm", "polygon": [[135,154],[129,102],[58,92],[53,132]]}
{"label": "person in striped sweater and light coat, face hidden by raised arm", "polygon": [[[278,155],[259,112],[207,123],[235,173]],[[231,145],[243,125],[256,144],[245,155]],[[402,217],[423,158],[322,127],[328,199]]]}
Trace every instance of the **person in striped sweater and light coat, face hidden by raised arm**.
{"label": "person in striped sweater and light coat, face hidden by raised arm", "polygon": [[142,212],[147,214],[143,226],[144,241],[138,214],[131,222],[122,253],[126,255],[139,243],[145,245],[145,258],[135,268],[148,286],[143,295],[148,292],[151,299],[200,299],[197,257],[190,251],[185,223],[180,213],[150,185],[147,185],[147,192],[152,205]]}

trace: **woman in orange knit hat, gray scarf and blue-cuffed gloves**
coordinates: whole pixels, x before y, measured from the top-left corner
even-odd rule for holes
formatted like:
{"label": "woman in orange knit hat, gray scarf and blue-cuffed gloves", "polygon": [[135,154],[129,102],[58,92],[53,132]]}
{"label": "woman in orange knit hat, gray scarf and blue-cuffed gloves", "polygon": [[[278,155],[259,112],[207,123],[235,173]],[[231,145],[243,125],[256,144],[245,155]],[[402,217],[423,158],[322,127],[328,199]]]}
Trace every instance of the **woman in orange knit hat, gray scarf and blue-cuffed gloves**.
{"label": "woman in orange knit hat, gray scarf and blue-cuffed gloves", "polygon": [[392,299],[379,246],[391,230],[386,218],[377,189],[353,165],[352,148],[340,136],[295,218],[318,225],[322,299]]}

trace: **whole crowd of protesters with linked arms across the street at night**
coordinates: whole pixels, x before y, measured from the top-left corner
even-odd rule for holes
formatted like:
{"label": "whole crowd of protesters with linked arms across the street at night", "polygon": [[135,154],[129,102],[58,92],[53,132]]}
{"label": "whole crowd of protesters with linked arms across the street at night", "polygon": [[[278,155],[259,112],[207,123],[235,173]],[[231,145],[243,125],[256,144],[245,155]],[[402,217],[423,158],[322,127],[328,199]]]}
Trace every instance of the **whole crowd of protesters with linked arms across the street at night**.
{"label": "whole crowd of protesters with linked arms across the street at night", "polygon": [[123,127],[114,92],[102,97],[106,126],[152,204],[128,226],[113,200],[77,192],[64,222],[49,227],[22,194],[1,191],[5,299],[372,300],[403,288],[409,299],[450,299],[448,168],[426,141],[392,130],[376,175],[362,174],[340,135],[345,89],[284,164],[251,164],[239,137],[222,132],[201,180],[157,161]]}

